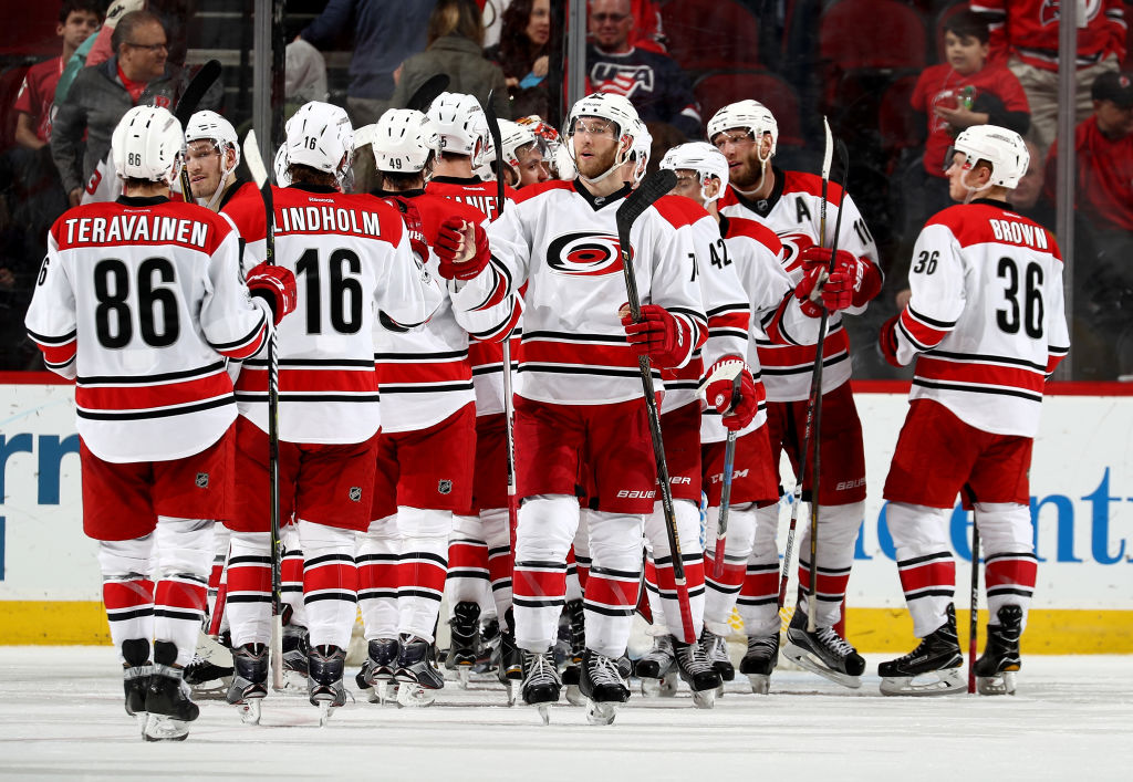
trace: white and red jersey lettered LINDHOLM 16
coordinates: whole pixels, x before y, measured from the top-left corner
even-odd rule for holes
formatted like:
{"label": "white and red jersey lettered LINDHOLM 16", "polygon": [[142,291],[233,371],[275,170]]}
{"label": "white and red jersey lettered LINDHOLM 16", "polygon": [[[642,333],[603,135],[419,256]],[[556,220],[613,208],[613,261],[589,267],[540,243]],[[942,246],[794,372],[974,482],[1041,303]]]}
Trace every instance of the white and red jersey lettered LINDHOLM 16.
{"label": "white and red jersey lettered LINDHOLM 16", "polygon": [[[280,439],[355,443],[382,425],[374,328],[411,329],[444,296],[412,254],[401,215],[370,195],[272,187],[275,263],[295,272],[296,312],[279,329]],[[225,206],[247,246],[244,272],[264,258],[266,221],[250,188]],[[267,431],[267,351],[244,363],[240,415]]]}

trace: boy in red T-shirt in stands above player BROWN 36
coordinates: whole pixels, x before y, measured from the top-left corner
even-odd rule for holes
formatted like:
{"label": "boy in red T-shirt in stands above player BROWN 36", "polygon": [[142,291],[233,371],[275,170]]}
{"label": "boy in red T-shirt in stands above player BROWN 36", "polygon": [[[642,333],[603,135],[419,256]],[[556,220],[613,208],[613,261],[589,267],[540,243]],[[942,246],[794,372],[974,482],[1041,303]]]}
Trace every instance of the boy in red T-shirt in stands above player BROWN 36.
{"label": "boy in red T-shirt in stands above player BROWN 36", "polygon": [[925,221],[952,205],[945,154],[952,141],[972,125],[998,125],[1026,133],[1026,95],[1006,67],[988,62],[989,31],[985,17],[961,11],[945,23],[946,62],[921,71],[910,102],[927,114],[923,170],[905,186],[904,236],[915,236]]}

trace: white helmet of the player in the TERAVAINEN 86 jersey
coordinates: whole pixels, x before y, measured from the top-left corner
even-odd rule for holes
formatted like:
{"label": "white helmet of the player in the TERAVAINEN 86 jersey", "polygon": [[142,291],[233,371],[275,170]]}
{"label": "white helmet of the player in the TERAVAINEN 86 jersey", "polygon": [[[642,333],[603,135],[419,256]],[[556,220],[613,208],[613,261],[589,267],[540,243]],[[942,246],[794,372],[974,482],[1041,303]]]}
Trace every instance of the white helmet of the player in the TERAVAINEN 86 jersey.
{"label": "white helmet of the player in the TERAVAINEN 86 jersey", "polygon": [[136,105],[119,120],[110,137],[110,150],[120,178],[172,186],[185,154],[185,136],[181,124],[168,109]]}

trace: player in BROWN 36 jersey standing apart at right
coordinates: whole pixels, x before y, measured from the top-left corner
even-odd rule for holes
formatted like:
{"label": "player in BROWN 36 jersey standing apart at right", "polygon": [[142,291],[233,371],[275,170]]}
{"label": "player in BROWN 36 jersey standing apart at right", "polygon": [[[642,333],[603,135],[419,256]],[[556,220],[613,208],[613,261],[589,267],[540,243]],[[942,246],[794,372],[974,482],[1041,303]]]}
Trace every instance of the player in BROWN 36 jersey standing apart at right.
{"label": "player in BROWN 36 jersey standing apart at right", "polygon": [[[963,691],[948,545],[957,494],[976,512],[982,552],[973,552],[972,567],[982,553],[991,614],[976,662],[979,689],[1015,691],[1037,568],[1031,449],[1043,383],[1070,349],[1058,246],[1006,203],[1029,159],[1023,139],[1006,128],[977,125],[956,137],[948,182],[961,204],[920,232],[912,298],[881,328],[891,364],[915,360],[885,499],[901,586],[921,639],[910,654],[878,666],[886,695]],[[935,458],[940,453],[948,458]]]}

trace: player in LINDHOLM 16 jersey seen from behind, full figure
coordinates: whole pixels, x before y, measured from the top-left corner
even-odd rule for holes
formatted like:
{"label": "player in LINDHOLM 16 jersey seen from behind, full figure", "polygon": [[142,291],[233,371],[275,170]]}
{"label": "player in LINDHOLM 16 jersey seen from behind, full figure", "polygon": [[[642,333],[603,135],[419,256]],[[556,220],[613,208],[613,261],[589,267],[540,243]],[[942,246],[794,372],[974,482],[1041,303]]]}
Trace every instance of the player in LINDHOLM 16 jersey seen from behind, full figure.
{"label": "player in LINDHOLM 16 jersey seen from behind, full figure", "polygon": [[[291,185],[273,188],[275,262],[300,278],[299,314],[279,333],[280,518],[295,517],[304,553],[304,607],[310,636],[308,691],[325,714],[346,702],[346,647],[353,628],[355,534],[374,502],[377,375],[373,331],[410,329],[441,303],[437,282],[414,257],[397,210],[340,192],[353,134],[346,112],[303,105],[287,122]],[[227,213],[263,254],[263,203],[249,192]],[[228,567],[236,679],[229,702],[246,719],[266,694],[270,637],[267,362],[246,360],[237,383],[238,496]]]}

